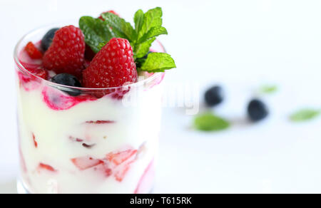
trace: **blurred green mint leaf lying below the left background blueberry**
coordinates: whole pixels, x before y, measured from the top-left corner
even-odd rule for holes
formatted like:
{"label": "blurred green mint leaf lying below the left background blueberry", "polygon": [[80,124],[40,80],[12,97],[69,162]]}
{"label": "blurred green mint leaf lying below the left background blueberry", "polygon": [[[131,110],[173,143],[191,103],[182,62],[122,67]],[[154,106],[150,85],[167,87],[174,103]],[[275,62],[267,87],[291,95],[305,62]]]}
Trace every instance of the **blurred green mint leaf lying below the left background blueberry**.
{"label": "blurred green mint leaf lying below the left background blueberry", "polygon": [[195,118],[194,127],[202,131],[219,131],[229,128],[230,123],[213,113],[203,113]]}

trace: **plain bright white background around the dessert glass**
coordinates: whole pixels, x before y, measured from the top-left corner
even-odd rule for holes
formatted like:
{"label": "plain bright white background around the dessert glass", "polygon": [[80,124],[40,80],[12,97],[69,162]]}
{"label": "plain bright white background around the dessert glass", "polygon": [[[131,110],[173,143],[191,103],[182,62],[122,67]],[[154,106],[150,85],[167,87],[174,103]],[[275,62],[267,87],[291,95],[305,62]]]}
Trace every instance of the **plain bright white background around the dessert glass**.
{"label": "plain bright white background around the dessert glass", "polygon": [[[0,192],[15,192],[18,155],[15,43],[33,28],[98,16],[113,9],[131,20],[137,9],[163,7],[161,38],[177,69],[167,84],[196,84],[200,96],[222,83],[227,100],[216,113],[230,130],[190,129],[193,117],[165,108],[156,193],[321,192],[321,120],[288,121],[302,107],[321,107],[321,1],[0,1]],[[271,115],[247,122],[245,108],[263,83]],[[200,99],[202,100],[202,99]]]}

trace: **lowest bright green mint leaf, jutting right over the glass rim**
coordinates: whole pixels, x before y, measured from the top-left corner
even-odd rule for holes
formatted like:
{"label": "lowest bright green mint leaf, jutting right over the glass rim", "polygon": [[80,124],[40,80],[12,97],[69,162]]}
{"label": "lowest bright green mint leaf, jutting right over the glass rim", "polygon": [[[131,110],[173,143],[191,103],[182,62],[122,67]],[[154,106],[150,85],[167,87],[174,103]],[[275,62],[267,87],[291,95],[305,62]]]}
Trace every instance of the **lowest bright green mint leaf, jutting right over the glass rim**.
{"label": "lowest bright green mint leaf, jutting right over the glass rim", "polygon": [[149,53],[146,61],[141,66],[141,71],[164,72],[176,68],[175,61],[167,53]]}

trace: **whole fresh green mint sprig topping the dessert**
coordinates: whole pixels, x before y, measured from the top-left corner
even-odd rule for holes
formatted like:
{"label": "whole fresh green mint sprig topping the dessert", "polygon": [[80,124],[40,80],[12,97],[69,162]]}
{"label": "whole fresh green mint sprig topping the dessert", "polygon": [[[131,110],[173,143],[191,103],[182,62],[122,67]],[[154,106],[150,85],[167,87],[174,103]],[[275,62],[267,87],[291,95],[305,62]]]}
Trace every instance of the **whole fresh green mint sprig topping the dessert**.
{"label": "whole fresh green mint sprig topping the dessert", "polygon": [[115,14],[105,13],[101,16],[105,21],[90,16],[83,16],[79,21],[86,44],[95,53],[98,53],[111,38],[126,38],[133,47],[138,71],[155,73],[176,68],[175,61],[167,53],[149,53],[156,37],[168,34],[166,28],[162,26],[161,8],[156,7],[146,13],[141,9],[136,11],[133,19],[135,28]]}

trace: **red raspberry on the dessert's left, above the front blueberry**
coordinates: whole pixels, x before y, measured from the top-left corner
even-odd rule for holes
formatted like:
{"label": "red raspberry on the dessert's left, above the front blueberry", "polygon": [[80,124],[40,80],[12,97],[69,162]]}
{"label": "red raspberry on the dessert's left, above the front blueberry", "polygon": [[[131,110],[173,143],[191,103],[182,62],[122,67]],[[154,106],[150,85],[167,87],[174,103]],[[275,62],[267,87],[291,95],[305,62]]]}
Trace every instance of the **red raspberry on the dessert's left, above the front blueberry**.
{"label": "red raspberry on the dessert's left, above the front blueberry", "polygon": [[59,29],[44,54],[44,67],[56,73],[70,73],[80,78],[85,60],[85,46],[80,28],[65,26]]}

